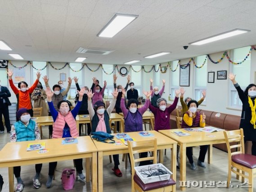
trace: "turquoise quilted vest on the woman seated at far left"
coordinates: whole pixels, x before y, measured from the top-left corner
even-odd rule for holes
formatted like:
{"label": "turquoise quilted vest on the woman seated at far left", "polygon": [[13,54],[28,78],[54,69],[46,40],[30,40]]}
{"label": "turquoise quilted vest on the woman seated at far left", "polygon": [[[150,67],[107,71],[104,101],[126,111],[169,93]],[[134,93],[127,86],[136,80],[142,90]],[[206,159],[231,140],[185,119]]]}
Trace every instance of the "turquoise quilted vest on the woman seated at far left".
{"label": "turquoise quilted vest on the woman seated at far left", "polygon": [[29,124],[27,125],[27,127],[22,123],[22,121],[18,121],[13,125],[16,131],[17,142],[36,140],[36,134],[35,134],[36,122],[35,121],[29,120]]}

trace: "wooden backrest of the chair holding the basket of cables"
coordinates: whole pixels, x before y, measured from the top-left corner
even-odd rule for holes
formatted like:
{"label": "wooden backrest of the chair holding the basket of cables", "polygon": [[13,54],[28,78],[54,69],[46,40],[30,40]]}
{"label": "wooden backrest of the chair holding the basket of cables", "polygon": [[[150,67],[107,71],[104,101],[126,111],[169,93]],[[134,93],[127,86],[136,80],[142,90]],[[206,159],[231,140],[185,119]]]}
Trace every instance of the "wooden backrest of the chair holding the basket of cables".
{"label": "wooden backrest of the chair holding the basket of cables", "polygon": [[[136,162],[153,160],[153,164],[157,163],[157,138],[143,141],[128,141],[128,149],[130,154],[130,163],[132,167],[132,178],[135,174],[134,167]],[[141,152],[152,152],[152,156],[135,159],[134,154]]]}

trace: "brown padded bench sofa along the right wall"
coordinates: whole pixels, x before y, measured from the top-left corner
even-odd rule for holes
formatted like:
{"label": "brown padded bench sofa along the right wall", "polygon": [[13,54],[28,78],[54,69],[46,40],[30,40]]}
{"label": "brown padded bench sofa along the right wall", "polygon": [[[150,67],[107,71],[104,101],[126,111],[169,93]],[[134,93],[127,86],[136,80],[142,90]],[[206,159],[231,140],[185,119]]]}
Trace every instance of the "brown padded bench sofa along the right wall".
{"label": "brown padded bench sofa along the right wall", "polygon": [[[178,106],[177,108],[181,109],[181,106]],[[170,116],[171,129],[177,129],[176,118],[175,118],[175,116],[177,116],[176,109],[173,112],[171,112],[171,116]],[[201,114],[202,113],[205,114],[206,126],[218,127],[225,130],[239,129],[240,119],[241,119],[240,116],[220,113],[220,117],[216,117],[215,115],[218,112],[211,112],[211,111],[201,110],[201,109],[198,109],[198,112],[200,112]],[[213,145],[213,147],[216,147],[222,151],[227,152],[227,147],[225,143],[215,144]],[[250,150],[251,148],[252,148],[252,142],[247,142],[245,145],[246,153],[251,154],[252,153]]]}

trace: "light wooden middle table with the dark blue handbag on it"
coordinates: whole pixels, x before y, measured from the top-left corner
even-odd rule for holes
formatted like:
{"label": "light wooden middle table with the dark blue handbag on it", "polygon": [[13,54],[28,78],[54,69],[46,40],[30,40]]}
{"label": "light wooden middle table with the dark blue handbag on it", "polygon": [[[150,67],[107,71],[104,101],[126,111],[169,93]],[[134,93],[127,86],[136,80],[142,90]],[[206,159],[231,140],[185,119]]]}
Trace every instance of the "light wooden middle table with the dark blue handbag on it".
{"label": "light wooden middle table with the dark blue handbag on it", "polygon": [[[127,134],[130,135],[131,138],[135,138],[136,141],[153,139],[157,138],[157,149],[160,150],[159,158],[161,159],[161,163],[163,162],[163,149],[171,150],[171,171],[172,171],[172,179],[176,181],[176,150],[177,150],[177,142],[171,138],[166,137],[163,134],[158,133],[157,131],[149,131],[154,136],[153,137],[142,137],[138,134],[138,132],[129,132]],[[116,141],[118,140],[116,137],[114,138]],[[103,156],[115,155],[115,154],[123,154],[129,153],[128,146],[125,144],[122,145],[114,145],[113,143],[102,143],[94,140],[94,144],[98,149],[98,190],[99,192],[103,191]]]}

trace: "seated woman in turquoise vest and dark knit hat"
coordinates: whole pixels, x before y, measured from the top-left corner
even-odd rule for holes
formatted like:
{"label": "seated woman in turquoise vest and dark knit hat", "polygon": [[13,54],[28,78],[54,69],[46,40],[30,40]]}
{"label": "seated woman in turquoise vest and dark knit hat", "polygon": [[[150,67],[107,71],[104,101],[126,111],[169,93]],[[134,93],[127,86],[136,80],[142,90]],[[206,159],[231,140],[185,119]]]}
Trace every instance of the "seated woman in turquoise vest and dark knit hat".
{"label": "seated woman in turquoise vest and dark knit hat", "polygon": [[[37,126],[35,121],[30,119],[30,114],[26,108],[20,108],[16,116],[18,121],[13,124],[11,128],[10,140],[11,142],[20,142],[20,141],[33,141],[40,140],[40,129]],[[42,169],[42,164],[36,164],[36,175],[33,178],[33,185],[36,189],[41,187],[40,172]],[[17,186],[15,192],[21,192],[24,188],[23,181],[20,177],[21,167],[13,167],[13,173],[17,179]]]}

